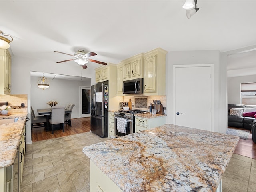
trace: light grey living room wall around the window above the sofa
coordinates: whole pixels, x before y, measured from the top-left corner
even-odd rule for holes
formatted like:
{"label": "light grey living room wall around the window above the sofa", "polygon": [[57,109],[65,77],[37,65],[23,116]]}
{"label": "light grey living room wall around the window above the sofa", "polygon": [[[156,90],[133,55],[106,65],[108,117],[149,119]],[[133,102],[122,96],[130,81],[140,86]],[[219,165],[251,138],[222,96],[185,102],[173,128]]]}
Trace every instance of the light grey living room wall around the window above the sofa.
{"label": "light grey living room wall around the window above the sofa", "polygon": [[240,104],[241,83],[256,82],[256,75],[228,78],[228,104]]}

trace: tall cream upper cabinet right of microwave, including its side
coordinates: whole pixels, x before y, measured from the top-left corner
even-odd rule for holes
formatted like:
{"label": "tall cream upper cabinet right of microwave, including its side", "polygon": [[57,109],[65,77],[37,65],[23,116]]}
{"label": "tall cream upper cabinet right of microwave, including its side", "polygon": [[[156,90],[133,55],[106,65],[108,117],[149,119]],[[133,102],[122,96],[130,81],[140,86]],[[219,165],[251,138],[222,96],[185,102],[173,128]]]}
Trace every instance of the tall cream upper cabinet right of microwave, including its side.
{"label": "tall cream upper cabinet right of microwave, including its side", "polygon": [[165,95],[166,51],[157,48],[144,55],[144,95]]}

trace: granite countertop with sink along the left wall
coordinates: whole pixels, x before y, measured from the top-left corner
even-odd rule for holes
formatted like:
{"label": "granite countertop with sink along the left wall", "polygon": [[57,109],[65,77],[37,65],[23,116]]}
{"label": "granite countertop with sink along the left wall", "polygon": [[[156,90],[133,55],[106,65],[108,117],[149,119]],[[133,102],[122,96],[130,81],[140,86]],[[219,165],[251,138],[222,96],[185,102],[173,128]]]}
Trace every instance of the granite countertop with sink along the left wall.
{"label": "granite countertop with sink along the left wall", "polygon": [[0,116],[0,119],[19,118],[15,123],[0,124],[0,168],[14,163],[23,127],[26,123],[27,112]]}

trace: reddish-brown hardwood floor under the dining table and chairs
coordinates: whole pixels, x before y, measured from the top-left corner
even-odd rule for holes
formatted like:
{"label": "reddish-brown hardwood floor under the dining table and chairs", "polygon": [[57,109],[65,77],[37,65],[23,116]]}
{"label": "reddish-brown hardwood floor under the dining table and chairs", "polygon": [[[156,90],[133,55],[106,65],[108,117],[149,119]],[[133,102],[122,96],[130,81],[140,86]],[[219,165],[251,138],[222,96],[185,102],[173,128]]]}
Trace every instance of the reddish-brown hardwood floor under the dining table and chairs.
{"label": "reddish-brown hardwood floor under the dining table and chairs", "polygon": [[45,131],[44,127],[33,128],[31,136],[32,142],[90,131],[90,117],[72,119],[71,124],[72,127],[68,126],[68,124],[64,125],[65,132],[62,132],[62,130],[54,130],[54,134],[52,134],[51,131]]}

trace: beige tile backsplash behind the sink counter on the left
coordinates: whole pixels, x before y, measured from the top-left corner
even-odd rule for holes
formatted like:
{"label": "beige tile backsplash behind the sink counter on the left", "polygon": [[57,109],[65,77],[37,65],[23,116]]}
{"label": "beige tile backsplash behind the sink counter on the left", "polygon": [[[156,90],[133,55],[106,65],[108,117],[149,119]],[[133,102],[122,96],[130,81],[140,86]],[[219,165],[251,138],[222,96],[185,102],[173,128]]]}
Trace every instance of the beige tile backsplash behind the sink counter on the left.
{"label": "beige tile backsplash behind the sink counter on the left", "polygon": [[[27,112],[28,111],[28,95],[17,94],[17,95],[0,95],[0,102],[8,101],[8,106],[12,108],[13,112]],[[24,107],[21,104],[24,103]]]}

